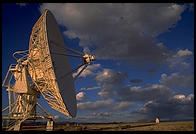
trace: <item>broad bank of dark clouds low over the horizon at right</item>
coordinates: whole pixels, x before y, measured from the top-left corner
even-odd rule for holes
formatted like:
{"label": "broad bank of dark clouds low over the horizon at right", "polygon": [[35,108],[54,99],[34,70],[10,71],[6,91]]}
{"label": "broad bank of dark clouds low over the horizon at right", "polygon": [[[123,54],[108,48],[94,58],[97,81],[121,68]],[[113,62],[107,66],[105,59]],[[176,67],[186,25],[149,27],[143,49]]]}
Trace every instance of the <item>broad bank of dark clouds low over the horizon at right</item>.
{"label": "broad bank of dark clouds low over the horizon at right", "polygon": [[[130,117],[133,117],[131,118],[133,121],[152,120],[156,117],[159,117],[161,120],[194,118],[194,94],[188,96],[176,94],[172,89],[164,85],[153,84],[146,87],[127,86],[118,89],[116,95],[119,97],[118,101],[107,99],[84,102],[78,104],[78,109],[93,111],[93,117],[89,117],[88,120],[92,121],[92,119],[99,118],[100,122],[109,121],[109,118],[111,118],[110,121],[118,119],[118,121],[129,122]],[[136,108],[133,104],[137,102],[140,102],[141,105],[138,105],[139,107]],[[105,110],[107,112],[103,112]],[[130,114],[122,114],[122,112],[129,110],[132,111]]]}

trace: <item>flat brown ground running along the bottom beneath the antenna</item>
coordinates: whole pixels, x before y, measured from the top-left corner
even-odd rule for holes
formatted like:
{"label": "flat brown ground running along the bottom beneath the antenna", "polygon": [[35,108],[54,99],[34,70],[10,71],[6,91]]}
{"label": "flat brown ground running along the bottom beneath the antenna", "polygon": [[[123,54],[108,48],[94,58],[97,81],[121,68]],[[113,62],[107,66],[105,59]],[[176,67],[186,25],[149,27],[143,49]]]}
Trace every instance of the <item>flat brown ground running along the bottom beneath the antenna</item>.
{"label": "flat brown ground running along the bottom beneath the antenna", "polygon": [[[46,125],[22,126],[21,131],[45,131]],[[194,131],[194,121],[117,124],[54,124],[54,131]]]}

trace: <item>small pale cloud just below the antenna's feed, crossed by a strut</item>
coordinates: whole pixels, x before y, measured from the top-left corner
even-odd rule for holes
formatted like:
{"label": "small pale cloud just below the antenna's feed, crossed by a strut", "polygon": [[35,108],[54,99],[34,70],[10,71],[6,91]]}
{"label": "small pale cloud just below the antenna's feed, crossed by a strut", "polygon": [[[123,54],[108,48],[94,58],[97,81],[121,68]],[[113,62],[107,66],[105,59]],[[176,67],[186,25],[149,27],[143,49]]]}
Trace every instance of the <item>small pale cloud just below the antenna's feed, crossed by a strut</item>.
{"label": "small pale cloud just below the antenna's feed, crossed by a strut", "polygon": [[[101,64],[92,64],[88,65],[87,68],[79,75],[79,77],[87,77],[90,75],[94,75],[94,71],[101,68]],[[82,67],[78,69],[76,73],[73,73],[73,77],[76,76],[80,71],[82,70]]]}

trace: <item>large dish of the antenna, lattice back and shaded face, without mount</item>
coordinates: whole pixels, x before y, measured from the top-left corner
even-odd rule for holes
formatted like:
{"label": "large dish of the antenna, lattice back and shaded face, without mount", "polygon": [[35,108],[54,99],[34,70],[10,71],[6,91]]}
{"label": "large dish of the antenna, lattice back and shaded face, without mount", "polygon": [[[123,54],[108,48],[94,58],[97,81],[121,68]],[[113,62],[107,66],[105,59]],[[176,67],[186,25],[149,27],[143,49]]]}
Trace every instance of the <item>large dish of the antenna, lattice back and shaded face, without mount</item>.
{"label": "large dish of the antenna, lattice back and shaded face, without mount", "polygon": [[[46,10],[34,25],[29,43],[29,74],[48,104],[75,117],[74,79],[64,40],[52,13]],[[67,75],[66,75],[67,74]],[[61,77],[65,75],[64,77]]]}

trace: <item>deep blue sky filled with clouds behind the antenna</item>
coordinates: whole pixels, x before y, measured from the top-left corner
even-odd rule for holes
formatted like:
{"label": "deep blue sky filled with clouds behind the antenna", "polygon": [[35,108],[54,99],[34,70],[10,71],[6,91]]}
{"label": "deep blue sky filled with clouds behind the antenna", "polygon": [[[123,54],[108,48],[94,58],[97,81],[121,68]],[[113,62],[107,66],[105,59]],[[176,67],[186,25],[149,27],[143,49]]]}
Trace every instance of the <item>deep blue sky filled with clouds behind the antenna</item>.
{"label": "deep blue sky filled with clouds behind the antenna", "polygon": [[[54,14],[67,46],[96,57],[75,81],[78,114],[72,120],[194,118],[193,4],[4,3],[2,80],[16,63],[12,54],[28,49],[31,28],[44,9]],[[80,62],[70,58],[72,67]]]}

